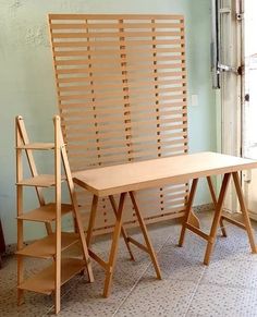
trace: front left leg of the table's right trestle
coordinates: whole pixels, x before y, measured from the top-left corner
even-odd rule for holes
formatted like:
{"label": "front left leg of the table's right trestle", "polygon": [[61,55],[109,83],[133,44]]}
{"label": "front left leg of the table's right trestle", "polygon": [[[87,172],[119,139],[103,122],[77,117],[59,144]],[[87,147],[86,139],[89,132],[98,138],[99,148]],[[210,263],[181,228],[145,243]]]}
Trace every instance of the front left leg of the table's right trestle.
{"label": "front left leg of the table's right trestle", "polygon": [[223,203],[224,203],[224,197],[225,197],[225,194],[228,191],[230,179],[231,179],[231,173],[224,174],[221,190],[220,190],[219,199],[218,199],[217,205],[216,205],[215,218],[212,220],[210,234],[209,234],[208,240],[207,240],[208,243],[207,243],[207,248],[206,248],[205,259],[204,259],[205,265],[208,265],[210,261],[210,254],[211,254],[215,241],[216,241],[216,234],[217,234],[218,225],[220,222],[222,207],[223,207]]}

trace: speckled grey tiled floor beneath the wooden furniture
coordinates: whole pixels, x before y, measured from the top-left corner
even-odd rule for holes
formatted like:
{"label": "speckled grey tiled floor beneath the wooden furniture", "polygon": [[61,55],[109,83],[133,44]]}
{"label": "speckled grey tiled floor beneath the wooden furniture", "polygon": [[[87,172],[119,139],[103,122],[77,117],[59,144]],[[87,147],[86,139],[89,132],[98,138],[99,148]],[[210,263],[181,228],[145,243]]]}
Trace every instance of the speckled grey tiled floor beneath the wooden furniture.
{"label": "speckled grey tiled floor beneath the wooden furniture", "polygon": [[[203,228],[209,228],[210,215],[199,215]],[[136,261],[130,261],[121,241],[111,296],[101,297],[103,271],[94,264],[95,283],[78,276],[64,285],[59,316],[257,316],[257,255],[250,254],[245,231],[228,225],[229,236],[219,236],[206,267],[201,263],[205,241],[187,233],[184,247],[179,248],[179,224],[149,229],[161,281],[155,279],[147,255],[133,247]],[[94,247],[105,256],[108,246],[101,239]],[[41,268],[47,263],[27,260],[28,272],[39,269],[39,264]],[[14,257],[5,258],[0,270],[0,316],[49,316],[50,296],[27,292],[25,304],[16,307],[15,265]]]}

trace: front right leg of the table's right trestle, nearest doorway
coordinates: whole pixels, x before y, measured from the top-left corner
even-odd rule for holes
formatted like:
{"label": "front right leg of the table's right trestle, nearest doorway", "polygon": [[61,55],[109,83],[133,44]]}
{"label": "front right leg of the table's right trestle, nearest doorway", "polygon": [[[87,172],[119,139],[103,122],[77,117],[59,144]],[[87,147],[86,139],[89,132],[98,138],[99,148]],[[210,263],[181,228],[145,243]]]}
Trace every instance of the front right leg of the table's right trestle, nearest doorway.
{"label": "front right leg of the table's right trestle, nearest doorway", "polygon": [[253,253],[257,253],[257,248],[256,248],[256,244],[255,244],[254,233],[253,233],[253,229],[252,229],[252,225],[250,225],[250,220],[249,220],[247,207],[246,207],[245,199],[244,199],[244,196],[243,196],[243,193],[242,193],[242,188],[241,188],[240,176],[238,176],[237,172],[233,172],[232,175],[233,175],[233,181],[234,181],[234,184],[235,184],[235,190],[236,190],[236,194],[237,194],[240,206],[241,206],[242,216],[244,218],[245,229],[246,229],[247,234],[248,234],[250,248],[252,248]]}

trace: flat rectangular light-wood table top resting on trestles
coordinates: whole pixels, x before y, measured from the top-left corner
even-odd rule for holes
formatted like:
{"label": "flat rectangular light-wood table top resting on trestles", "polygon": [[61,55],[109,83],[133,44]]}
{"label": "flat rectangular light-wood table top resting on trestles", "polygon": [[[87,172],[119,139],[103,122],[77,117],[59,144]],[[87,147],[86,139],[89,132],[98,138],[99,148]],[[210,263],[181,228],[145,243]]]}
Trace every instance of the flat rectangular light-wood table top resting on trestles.
{"label": "flat rectangular light-wood table top resting on trestles", "polygon": [[257,161],[205,151],[78,171],[73,178],[93,194],[108,196],[254,168]]}

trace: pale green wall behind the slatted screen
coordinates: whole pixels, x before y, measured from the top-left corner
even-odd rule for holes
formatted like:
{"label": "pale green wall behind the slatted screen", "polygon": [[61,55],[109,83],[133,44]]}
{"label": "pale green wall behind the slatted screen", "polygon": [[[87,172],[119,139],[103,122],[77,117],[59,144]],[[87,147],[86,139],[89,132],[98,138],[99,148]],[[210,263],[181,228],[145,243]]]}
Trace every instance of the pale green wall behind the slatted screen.
{"label": "pale green wall behind the slatted screen", "polygon": [[[0,0],[0,215],[7,243],[16,241],[14,118],[24,117],[34,141],[50,141],[57,112],[48,13],[182,13],[186,21],[188,101],[192,153],[216,150],[216,108],[210,76],[210,1],[207,0]],[[42,161],[42,155],[37,159]],[[40,160],[41,159],[41,160]],[[50,163],[44,159],[40,171]],[[197,204],[209,202],[206,190]],[[26,191],[25,208],[36,206]],[[69,221],[65,222],[69,225]],[[26,239],[44,231],[27,224]]]}

